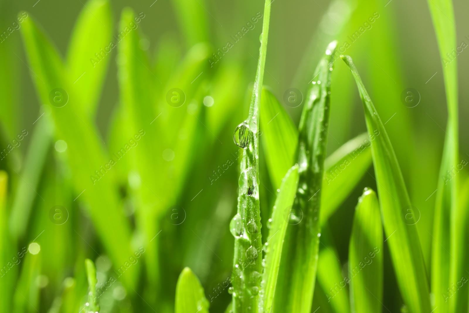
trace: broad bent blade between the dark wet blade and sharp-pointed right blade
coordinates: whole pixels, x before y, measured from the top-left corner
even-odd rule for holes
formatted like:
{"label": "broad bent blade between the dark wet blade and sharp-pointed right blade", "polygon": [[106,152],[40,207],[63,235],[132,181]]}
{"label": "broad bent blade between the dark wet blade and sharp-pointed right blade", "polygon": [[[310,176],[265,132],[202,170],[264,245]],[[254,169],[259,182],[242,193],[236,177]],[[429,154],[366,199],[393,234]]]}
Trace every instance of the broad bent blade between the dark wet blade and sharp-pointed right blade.
{"label": "broad bent blade between the dark wet blade and sharp-pointed right blade", "polygon": [[350,139],[325,159],[321,195],[321,224],[352,192],[371,165],[371,141],[363,133]]}

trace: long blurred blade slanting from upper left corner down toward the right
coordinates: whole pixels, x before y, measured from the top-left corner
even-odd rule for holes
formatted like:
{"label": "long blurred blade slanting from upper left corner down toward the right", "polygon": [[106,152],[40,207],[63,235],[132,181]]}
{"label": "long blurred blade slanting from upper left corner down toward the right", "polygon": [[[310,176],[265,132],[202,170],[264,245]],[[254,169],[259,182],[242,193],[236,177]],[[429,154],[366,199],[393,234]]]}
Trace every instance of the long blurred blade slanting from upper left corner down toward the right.
{"label": "long blurred blade slanting from upper left corner down toward the right", "polygon": [[[80,93],[68,80],[56,49],[35,25],[32,17],[23,21],[21,31],[30,67],[34,71],[32,79],[39,99],[52,110],[57,136],[68,143],[66,153],[76,195],[80,197],[79,201],[87,204],[102,243],[114,264],[120,266],[127,262],[132,251],[129,223],[119,205],[117,188],[113,186],[113,171],[104,168],[112,162],[104,153],[98,130],[83,112]],[[54,91],[56,88],[62,89],[59,92],[60,99],[68,98],[64,106],[49,99],[49,95],[54,94],[51,92],[57,92]],[[54,103],[54,106],[49,103]],[[128,270],[132,274],[122,276],[126,285],[134,285],[136,275],[133,274],[138,268],[139,265],[132,266]]]}

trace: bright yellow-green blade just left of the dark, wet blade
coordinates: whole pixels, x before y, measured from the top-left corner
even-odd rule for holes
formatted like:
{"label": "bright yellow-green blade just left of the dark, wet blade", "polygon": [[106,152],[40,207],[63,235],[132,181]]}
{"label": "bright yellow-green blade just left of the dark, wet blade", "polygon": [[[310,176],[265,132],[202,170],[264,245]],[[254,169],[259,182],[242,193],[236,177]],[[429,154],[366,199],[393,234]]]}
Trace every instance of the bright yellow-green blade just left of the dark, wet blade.
{"label": "bright yellow-green blade just left of the dark, wet blade", "polygon": [[287,231],[285,211],[293,205],[298,187],[298,165],[290,168],[282,180],[280,191],[275,200],[270,221],[269,237],[265,243],[268,251],[265,253],[265,268],[262,279],[264,312],[271,312],[277,276],[279,274],[280,257],[282,255],[283,240]]}

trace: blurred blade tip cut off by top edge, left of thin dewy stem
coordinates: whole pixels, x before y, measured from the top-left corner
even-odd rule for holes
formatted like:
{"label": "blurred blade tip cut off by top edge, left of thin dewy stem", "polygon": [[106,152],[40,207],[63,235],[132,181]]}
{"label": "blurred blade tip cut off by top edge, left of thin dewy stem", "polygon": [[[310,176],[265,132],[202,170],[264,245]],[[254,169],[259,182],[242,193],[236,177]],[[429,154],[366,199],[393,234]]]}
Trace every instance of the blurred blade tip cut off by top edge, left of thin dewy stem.
{"label": "blurred blade tip cut off by top edge, left of thin dewy stem", "polygon": [[187,47],[208,40],[208,27],[204,0],[173,0],[179,27],[186,37]]}

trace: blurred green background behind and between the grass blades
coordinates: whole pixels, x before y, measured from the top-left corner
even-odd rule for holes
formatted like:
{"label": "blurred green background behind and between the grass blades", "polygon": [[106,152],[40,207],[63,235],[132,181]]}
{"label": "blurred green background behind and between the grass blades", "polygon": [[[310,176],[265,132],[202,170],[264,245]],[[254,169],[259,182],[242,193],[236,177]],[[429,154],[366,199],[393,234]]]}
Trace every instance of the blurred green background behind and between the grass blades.
{"label": "blurred green background behind and between the grass blades", "polygon": [[[263,12],[262,1],[116,0],[110,3],[114,25],[112,30],[117,34],[121,11],[130,7],[137,15],[140,12],[145,15],[139,29],[147,41],[141,41],[140,46],[151,58],[168,42],[174,45],[174,51],[179,51],[183,56],[197,43],[187,31],[192,25],[184,28],[182,14],[178,14],[182,11],[178,11],[177,4],[185,6],[186,2],[197,8],[193,14],[202,16],[206,21],[206,37],[198,39],[209,42],[213,51],[226,46],[227,41],[232,41],[230,36],[240,31],[257,12]],[[66,55],[76,19],[82,10],[86,10],[86,4],[81,0],[2,0],[0,31],[6,31],[15,21],[18,12],[26,10],[31,18],[42,25],[63,57]],[[469,44],[469,20],[466,18],[468,9],[469,4],[466,1],[454,1],[458,46],[462,41]],[[371,24],[371,28],[352,43],[348,36],[352,36],[375,12],[379,17]],[[214,69],[207,69],[216,77],[223,67],[229,68],[229,75],[224,80],[219,80],[222,82],[219,83],[222,84],[221,88],[228,90],[224,94],[229,95],[229,99],[223,99],[221,102],[229,107],[229,114],[226,121],[220,122],[219,132],[214,135],[218,141],[211,137],[213,134],[203,126],[203,122],[197,124],[197,136],[193,144],[194,151],[198,153],[188,150],[190,164],[181,182],[181,191],[174,195],[175,200],[170,203],[184,208],[186,220],[180,225],[168,222],[166,210],[169,205],[163,208],[165,212],[158,217],[161,227],[155,229],[154,233],[161,230],[158,236],[159,274],[155,276],[159,277],[159,282],[149,282],[145,278],[150,277],[147,276],[147,271],[151,264],[148,264],[149,260],[145,259],[143,253],[144,258],[141,260],[146,262],[147,269],[142,267],[140,271],[128,273],[138,276],[135,278],[138,287],[135,287],[135,290],[120,287],[117,291],[105,293],[108,296],[103,296],[101,300],[102,312],[172,312],[175,284],[185,266],[191,267],[197,274],[204,285],[207,299],[210,301],[213,298],[211,312],[224,312],[228,305],[230,295],[227,289],[223,289],[221,293],[215,289],[231,275],[232,267],[233,237],[229,232],[228,223],[235,214],[239,170],[238,161],[234,157],[237,147],[232,137],[235,126],[247,116],[246,94],[249,94],[249,84],[254,80],[260,32],[261,22],[257,22],[254,29],[235,43]],[[427,2],[274,0],[269,35],[264,84],[271,88],[281,102],[288,88],[298,88],[303,95],[306,94],[306,84],[312,78],[312,71],[328,41],[337,38],[339,47],[343,46],[345,41],[350,43],[345,53],[354,58],[379,115],[383,122],[387,121],[386,130],[401,165],[412,204],[420,211],[421,220],[417,228],[428,267],[435,201],[432,192],[437,185],[447,114],[441,61]],[[469,100],[468,88],[465,88],[469,84],[469,73],[463,70],[469,65],[469,52],[466,50],[460,53],[457,61],[460,90],[460,159],[469,160],[469,154],[466,153],[469,153],[469,140],[464,136],[469,131],[469,124],[465,122],[469,115],[465,105]],[[112,51],[94,121],[98,135],[104,138],[106,145],[111,141],[113,115],[121,101],[118,65],[115,62],[117,52],[117,49]],[[179,58],[177,53],[174,56]],[[361,100],[352,76],[343,62],[335,62],[334,66],[329,153],[366,129]],[[15,30],[0,43],[0,71],[1,149],[6,148],[12,138],[22,130],[28,131],[21,145],[13,149],[11,155],[0,160],[0,168],[8,173],[8,192],[1,227],[2,232],[9,232],[11,225],[8,224],[8,217],[11,207],[15,200],[26,197],[21,192],[18,193],[18,186],[25,179],[28,180],[20,175],[28,149],[34,141],[33,122],[44,113],[40,111],[42,103],[31,80],[34,74],[31,74],[19,30]],[[216,81],[212,76],[205,79],[208,82]],[[418,91],[421,99],[416,107],[409,108],[401,102],[401,93],[406,88]],[[208,94],[210,95],[210,92]],[[217,98],[213,97],[216,102]],[[302,107],[285,107],[297,123]],[[41,136],[34,138],[40,140],[39,137]],[[126,141],[126,138],[127,135],[121,139]],[[24,289],[28,290],[28,294],[21,296],[34,305],[22,305],[21,297],[12,292],[14,312],[76,312],[76,304],[83,305],[83,296],[87,288],[84,258],[95,260],[98,275],[101,275],[98,276],[98,283],[107,281],[108,271],[120,266],[112,264],[109,257],[106,257],[109,252],[106,252],[96,234],[87,210],[79,200],[74,201],[80,192],[71,187],[67,161],[54,148],[56,140],[57,138],[47,146],[44,166],[37,168],[37,186],[30,186],[35,193],[29,191],[33,202],[30,214],[23,216],[26,225],[24,234],[15,239],[15,236],[9,239],[2,237],[3,246],[10,245],[10,250],[7,249],[8,253],[1,259],[6,264],[16,252],[20,252],[24,246],[27,247],[41,234],[35,241],[41,245],[40,260],[28,254],[21,263],[12,267],[11,273],[7,273],[9,276],[0,278],[0,286],[6,284],[7,279],[11,279],[12,285],[20,288],[24,285],[23,281],[28,280],[27,277],[34,277],[31,282],[36,284],[36,287]],[[260,158],[260,198],[262,218],[265,221],[272,209],[275,191],[267,175],[262,150]],[[229,166],[226,173],[211,183],[215,177],[213,171],[226,164],[228,159],[235,165]],[[162,159],[153,161],[165,162]],[[344,268],[356,199],[364,187],[376,188],[373,171],[369,169],[368,172],[330,219],[331,238]],[[133,238],[138,238],[134,212],[139,210],[139,207],[129,196],[130,184],[130,178],[129,182],[120,180],[117,183],[123,203],[122,210],[132,227]],[[202,192],[198,194],[200,190]],[[49,221],[49,210],[55,205],[67,207],[70,221],[63,225],[54,225]],[[119,232],[119,229],[115,231]],[[148,240],[146,243],[148,244]],[[385,253],[388,253],[386,248]],[[27,271],[30,272],[26,273]],[[399,312],[401,299],[392,273],[389,255],[386,254],[384,305],[392,312]],[[74,281],[69,277],[73,277]],[[125,282],[123,284],[125,285]],[[34,291],[36,289],[37,291]],[[75,300],[71,300],[72,293],[77,295],[74,296]],[[8,301],[11,300],[10,298]],[[318,306],[314,304],[313,310]],[[330,312],[327,310],[327,305],[323,305],[318,312]]]}

